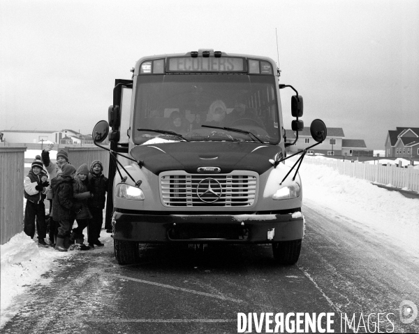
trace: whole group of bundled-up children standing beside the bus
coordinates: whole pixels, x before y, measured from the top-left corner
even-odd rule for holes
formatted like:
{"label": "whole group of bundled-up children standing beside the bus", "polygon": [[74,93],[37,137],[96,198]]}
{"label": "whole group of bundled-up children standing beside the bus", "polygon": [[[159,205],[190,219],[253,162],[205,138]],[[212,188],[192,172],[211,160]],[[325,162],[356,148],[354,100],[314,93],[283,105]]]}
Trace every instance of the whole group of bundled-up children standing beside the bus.
{"label": "whole group of bundled-up children standing beside the bus", "polygon": [[[50,246],[60,252],[66,252],[74,243],[81,250],[103,246],[99,238],[108,189],[108,178],[102,173],[103,164],[95,160],[90,169],[87,164],[76,169],[68,163],[64,150],[57,152],[57,163],[54,163],[50,160],[53,147],[53,144],[47,145],[41,157],[36,157],[24,179],[24,197],[27,198],[24,232],[34,238],[36,225],[38,245],[48,247],[43,203],[46,198],[50,201]],[[76,228],[73,228],[74,222],[77,222]],[[87,228],[89,246],[84,245],[84,228]]]}

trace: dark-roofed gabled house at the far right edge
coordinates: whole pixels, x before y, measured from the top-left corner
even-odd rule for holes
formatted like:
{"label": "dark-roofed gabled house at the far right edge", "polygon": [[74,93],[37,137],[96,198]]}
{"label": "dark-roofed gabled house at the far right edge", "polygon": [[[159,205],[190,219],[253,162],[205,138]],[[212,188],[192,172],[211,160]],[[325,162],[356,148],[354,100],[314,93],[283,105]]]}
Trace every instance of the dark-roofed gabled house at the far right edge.
{"label": "dark-roofed gabled house at the far right edge", "polygon": [[419,128],[396,127],[396,130],[388,130],[385,157],[419,159]]}

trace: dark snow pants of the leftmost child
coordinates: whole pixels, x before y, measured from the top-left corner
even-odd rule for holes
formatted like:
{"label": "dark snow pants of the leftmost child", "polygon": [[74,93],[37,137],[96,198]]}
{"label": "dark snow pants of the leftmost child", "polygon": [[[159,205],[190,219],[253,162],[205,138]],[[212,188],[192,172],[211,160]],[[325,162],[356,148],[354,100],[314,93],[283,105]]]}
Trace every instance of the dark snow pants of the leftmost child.
{"label": "dark snow pants of the leftmost child", "polygon": [[38,232],[38,239],[44,239],[47,236],[47,226],[45,224],[45,204],[43,202],[35,204],[27,200],[24,209],[24,228],[23,231],[34,239],[36,231]]}

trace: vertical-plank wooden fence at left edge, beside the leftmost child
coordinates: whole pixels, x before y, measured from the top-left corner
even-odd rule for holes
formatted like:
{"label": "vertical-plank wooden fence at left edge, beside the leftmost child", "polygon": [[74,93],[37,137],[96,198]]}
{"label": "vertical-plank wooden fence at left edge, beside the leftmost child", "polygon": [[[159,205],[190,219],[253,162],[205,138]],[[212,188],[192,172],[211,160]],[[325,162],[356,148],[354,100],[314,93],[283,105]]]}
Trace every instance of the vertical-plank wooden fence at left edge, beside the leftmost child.
{"label": "vertical-plank wooden fence at left edge, beside the leftmost child", "polygon": [[0,245],[23,231],[26,147],[0,146]]}

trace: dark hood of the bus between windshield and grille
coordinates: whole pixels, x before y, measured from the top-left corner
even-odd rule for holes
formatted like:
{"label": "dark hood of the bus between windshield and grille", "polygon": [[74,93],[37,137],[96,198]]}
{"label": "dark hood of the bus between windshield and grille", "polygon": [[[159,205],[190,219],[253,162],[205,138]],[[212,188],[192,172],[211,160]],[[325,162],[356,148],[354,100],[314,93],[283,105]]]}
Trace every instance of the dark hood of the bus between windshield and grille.
{"label": "dark hood of the bus between windshield and grille", "polygon": [[281,147],[261,143],[175,142],[138,145],[130,154],[156,175],[166,170],[196,174],[199,167],[219,167],[223,174],[251,170],[260,175],[272,168],[270,159],[278,152],[284,154]]}

